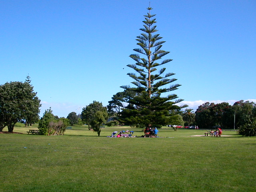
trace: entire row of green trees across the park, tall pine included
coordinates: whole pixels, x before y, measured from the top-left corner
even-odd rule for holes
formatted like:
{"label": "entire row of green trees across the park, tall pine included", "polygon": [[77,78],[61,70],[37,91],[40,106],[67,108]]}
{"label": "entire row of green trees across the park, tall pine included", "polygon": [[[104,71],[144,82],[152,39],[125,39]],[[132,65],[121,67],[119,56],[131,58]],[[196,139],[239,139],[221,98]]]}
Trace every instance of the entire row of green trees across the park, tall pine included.
{"label": "entire row of green trees across the park, tall pine included", "polygon": [[[176,94],[170,94],[177,90],[180,84],[173,84],[177,79],[171,78],[174,73],[166,72],[166,68],[158,67],[170,64],[172,59],[162,57],[169,52],[162,50],[165,41],[159,34],[155,34],[155,15],[150,14],[152,8],[148,7],[148,13],[144,15],[144,28],[137,36],[138,48],[135,54],[131,54],[135,63],[128,64],[135,72],[127,75],[132,78],[133,86],[121,86],[123,92],[113,95],[109,105],[93,101],[82,109],[80,117],[75,112],[68,114],[67,118],[56,118],[52,110],[46,110],[40,119],[38,128],[41,134],[64,134],[68,124],[88,124],[88,128],[97,132],[100,136],[102,124],[106,123],[109,114],[114,116],[110,124],[118,122],[130,124],[133,127],[161,127],[162,125],[187,123],[197,124],[201,128],[212,128],[220,125],[222,128],[232,128],[232,117],[236,118],[236,127],[244,125],[255,118],[255,104],[249,102],[236,102],[233,106],[228,103],[205,103],[198,107],[194,113],[191,109],[178,106],[182,101]],[[40,100],[33,92],[29,76],[25,83],[11,82],[0,86],[0,131],[8,126],[12,131],[14,124],[25,119],[26,125],[38,119]],[[162,96],[164,94],[164,96]]]}

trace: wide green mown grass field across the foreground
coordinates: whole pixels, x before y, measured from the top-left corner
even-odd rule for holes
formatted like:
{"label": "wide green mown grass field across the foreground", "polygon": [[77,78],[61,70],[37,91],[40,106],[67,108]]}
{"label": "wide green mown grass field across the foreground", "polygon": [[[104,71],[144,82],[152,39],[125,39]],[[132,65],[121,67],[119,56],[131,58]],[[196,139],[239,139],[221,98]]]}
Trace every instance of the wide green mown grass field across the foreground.
{"label": "wide green mown grass field across the foreground", "polygon": [[[159,138],[108,138],[86,126],[64,136],[0,134],[3,192],[255,192],[256,137],[159,129]],[[36,128],[34,126],[33,128]],[[133,129],[141,136],[141,130]],[[7,131],[5,128],[4,131]]]}

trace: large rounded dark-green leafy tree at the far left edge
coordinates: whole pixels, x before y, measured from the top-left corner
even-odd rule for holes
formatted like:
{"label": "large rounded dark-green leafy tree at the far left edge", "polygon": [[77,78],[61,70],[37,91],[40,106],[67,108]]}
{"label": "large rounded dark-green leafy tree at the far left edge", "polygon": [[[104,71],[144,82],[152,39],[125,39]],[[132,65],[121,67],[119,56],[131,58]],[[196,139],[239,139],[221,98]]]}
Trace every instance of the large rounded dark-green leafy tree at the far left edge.
{"label": "large rounded dark-green leafy tree at the far left edge", "polygon": [[14,125],[26,118],[38,117],[41,106],[33,86],[29,83],[10,82],[0,86],[0,131],[8,126],[12,132]]}

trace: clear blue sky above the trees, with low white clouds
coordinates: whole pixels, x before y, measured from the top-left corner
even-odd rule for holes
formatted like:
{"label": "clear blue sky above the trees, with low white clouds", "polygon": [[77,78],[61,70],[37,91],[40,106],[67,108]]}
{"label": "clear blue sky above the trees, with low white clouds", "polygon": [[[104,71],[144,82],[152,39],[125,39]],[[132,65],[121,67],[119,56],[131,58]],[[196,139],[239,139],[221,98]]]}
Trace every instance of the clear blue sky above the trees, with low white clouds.
{"label": "clear blue sky above the trees, with low white clouds", "polygon": [[[182,104],[256,102],[255,0],[150,0],[170,51]],[[146,0],[0,0],[0,84],[29,74],[44,110],[66,117],[108,104],[133,72],[127,64]],[[123,69],[124,68],[124,69]]]}

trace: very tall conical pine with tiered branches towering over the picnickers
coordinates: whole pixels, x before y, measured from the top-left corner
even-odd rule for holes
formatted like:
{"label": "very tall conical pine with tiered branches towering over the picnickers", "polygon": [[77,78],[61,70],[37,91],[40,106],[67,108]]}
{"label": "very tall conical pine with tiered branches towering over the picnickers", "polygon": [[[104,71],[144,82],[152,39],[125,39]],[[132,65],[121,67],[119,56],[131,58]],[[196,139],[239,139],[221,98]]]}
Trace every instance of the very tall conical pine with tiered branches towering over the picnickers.
{"label": "very tall conical pine with tiered branches towering over the picnickers", "polygon": [[175,105],[182,101],[176,94],[161,96],[162,93],[178,89],[180,84],[172,84],[177,80],[170,78],[174,73],[166,73],[166,68],[157,69],[158,66],[167,64],[172,59],[159,62],[169,52],[161,49],[165,41],[161,40],[162,37],[159,34],[155,34],[158,31],[154,25],[156,23],[156,19],[153,18],[155,15],[150,14],[151,7],[147,9],[148,14],[144,15],[145,20],[143,21],[144,28],[140,29],[143,33],[136,39],[139,48],[134,49],[136,54],[130,55],[130,58],[136,63],[127,65],[136,71],[136,73],[128,73],[128,76],[134,80],[131,83],[135,87],[121,86],[135,94],[132,97],[129,95],[129,104],[120,112],[120,120],[145,126],[165,125],[169,123],[168,116],[179,113],[180,108],[185,106]]}

